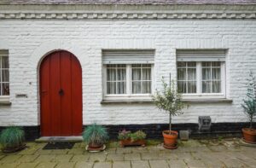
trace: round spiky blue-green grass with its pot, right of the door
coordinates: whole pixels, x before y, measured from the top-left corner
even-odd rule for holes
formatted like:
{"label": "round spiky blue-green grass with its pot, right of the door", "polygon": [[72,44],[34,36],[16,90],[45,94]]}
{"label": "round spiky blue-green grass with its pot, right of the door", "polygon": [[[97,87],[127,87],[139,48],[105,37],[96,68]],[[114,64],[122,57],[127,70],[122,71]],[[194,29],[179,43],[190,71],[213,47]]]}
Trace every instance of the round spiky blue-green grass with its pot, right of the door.
{"label": "round spiky blue-green grass with its pot, right of the door", "polygon": [[106,148],[108,132],[102,125],[89,125],[83,132],[84,142],[87,143],[88,151],[102,151]]}

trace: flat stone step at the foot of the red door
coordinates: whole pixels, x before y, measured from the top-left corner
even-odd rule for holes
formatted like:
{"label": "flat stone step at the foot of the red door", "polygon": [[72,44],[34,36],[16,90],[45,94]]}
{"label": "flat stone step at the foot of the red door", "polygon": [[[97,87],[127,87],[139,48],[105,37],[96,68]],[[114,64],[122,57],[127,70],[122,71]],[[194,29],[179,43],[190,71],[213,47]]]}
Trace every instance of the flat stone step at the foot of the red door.
{"label": "flat stone step at the foot of the red door", "polygon": [[36,142],[83,142],[82,136],[42,136]]}

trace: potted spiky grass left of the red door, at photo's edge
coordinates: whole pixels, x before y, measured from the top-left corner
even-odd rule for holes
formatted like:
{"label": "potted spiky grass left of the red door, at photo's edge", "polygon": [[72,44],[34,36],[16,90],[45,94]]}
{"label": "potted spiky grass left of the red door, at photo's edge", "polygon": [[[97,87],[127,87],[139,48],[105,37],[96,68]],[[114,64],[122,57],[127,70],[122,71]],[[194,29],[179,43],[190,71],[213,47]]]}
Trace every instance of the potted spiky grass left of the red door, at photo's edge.
{"label": "potted spiky grass left of the red door, at photo's edge", "polygon": [[9,126],[2,130],[0,144],[3,153],[13,153],[26,147],[24,130],[18,126]]}

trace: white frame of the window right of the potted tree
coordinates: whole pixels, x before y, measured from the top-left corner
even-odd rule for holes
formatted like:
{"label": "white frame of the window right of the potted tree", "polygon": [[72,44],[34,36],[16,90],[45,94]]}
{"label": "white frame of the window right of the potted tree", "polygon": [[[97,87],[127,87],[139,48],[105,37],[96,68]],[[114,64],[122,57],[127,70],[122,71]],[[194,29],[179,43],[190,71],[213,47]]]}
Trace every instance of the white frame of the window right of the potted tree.
{"label": "white frame of the window right of the potted tree", "polygon": [[195,61],[195,62],[196,62],[196,93],[183,93],[183,99],[226,98],[225,61],[220,61],[220,73],[221,73],[221,92],[220,93],[202,93],[202,66],[201,66],[202,61]]}

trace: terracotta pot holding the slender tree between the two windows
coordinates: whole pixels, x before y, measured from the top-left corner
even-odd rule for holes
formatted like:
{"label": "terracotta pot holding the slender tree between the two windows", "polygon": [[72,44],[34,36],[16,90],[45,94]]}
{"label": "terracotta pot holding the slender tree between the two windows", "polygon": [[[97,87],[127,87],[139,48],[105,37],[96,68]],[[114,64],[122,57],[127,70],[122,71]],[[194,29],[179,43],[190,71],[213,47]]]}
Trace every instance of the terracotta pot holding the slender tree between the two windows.
{"label": "terracotta pot holding the slender tree between the two windows", "polygon": [[171,130],[164,130],[162,132],[164,136],[164,147],[165,148],[177,148],[177,131]]}

